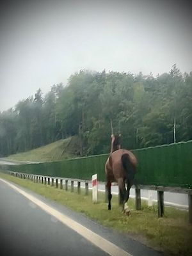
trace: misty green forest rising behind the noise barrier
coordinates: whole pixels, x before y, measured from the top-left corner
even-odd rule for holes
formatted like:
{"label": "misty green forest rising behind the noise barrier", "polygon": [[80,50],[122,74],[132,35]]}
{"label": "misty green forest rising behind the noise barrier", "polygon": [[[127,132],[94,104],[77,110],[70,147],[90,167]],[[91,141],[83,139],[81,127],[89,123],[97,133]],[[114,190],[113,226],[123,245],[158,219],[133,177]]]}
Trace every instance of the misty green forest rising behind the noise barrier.
{"label": "misty green forest rising behind the noise barrier", "polygon": [[80,70],[0,112],[0,156],[69,136],[79,139],[79,156],[108,153],[111,124],[127,149],[192,140],[192,72]]}

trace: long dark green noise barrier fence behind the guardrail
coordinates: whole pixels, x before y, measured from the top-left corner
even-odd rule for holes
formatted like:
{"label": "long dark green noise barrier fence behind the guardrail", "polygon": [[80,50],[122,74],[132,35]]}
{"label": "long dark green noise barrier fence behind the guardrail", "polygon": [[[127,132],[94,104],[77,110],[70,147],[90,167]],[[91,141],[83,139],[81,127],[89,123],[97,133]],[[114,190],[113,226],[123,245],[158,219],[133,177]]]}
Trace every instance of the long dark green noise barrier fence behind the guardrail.
{"label": "long dark green noise barrier fence behind the guardrail", "polygon": [[[147,186],[192,188],[192,141],[132,150],[138,158],[136,183]],[[97,173],[105,181],[108,154],[51,163],[9,165],[13,172],[90,180]]]}

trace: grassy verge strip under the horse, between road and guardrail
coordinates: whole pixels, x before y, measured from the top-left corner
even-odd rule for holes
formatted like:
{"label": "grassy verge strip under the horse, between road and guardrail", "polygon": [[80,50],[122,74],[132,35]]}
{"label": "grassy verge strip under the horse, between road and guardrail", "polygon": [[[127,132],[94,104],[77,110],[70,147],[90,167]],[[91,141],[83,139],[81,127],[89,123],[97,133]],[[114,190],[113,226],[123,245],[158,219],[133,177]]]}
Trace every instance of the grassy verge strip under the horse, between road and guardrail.
{"label": "grassy verge strip under the horse, between road and guardrail", "polygon": [[58,204],[67,205],[70,209],[81,212],[106,227],[118,230],[141,243],[163,251],[164,255],[192,255],[192,227],[188,224],[188,212],[186,211],[165,207],[164,218],[157,218],[156,205],[148,207],[145,202],[142,202],[141,211],[136,211],[134,200],[129,200],[131,216],[125,216],[118,206],[117,196],[114,195],[112,210],[108,211],[107,204],[104,203],[104,193],[99,193],[97,204],[93,204],[91,191],[88,196],[85,196],[81,189],[81,195],[77,195],[76,189],[74,193],[71,193],[4,173],[0,173],[0,177],[28,188]]}

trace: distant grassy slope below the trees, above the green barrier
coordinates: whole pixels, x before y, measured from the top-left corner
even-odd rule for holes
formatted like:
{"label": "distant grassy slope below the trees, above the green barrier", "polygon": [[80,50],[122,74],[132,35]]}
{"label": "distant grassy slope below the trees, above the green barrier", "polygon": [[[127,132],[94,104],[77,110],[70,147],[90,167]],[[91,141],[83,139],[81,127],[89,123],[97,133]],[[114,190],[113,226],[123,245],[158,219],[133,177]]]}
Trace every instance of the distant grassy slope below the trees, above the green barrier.
{"label": "distant grassy slope below the trees, above the green barrier", "polygon": [[77,157],[77,138],[59,140],[44,147],[6,157],[18,161],[55,161]]}

